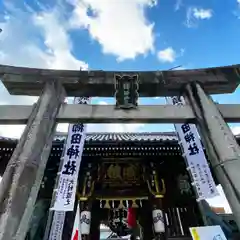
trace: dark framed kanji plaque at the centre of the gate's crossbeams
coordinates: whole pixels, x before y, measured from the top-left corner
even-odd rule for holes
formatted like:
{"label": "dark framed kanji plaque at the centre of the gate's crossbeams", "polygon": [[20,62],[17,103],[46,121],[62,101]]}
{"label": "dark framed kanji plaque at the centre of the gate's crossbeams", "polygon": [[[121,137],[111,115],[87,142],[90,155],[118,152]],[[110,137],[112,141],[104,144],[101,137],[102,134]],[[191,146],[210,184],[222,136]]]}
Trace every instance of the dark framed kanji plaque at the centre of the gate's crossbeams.
{"label": "dark framed kanji plaque at the centre of the gate's crossbeams", "polygon": [[117,108],[136,108],[138,105],[138,76],[115,75]]}

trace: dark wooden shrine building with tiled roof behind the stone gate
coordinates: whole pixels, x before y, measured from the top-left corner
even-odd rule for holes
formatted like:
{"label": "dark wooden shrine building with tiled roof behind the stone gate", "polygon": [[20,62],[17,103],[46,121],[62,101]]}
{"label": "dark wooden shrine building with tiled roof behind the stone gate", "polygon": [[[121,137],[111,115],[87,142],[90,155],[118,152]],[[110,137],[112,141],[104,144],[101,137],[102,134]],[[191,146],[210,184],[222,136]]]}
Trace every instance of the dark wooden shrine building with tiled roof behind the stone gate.
{"label": "dark wooden shrine building with tiled roof behind the stone gate", "polygon": [[[58,133],[54,138],[26,240],[43,239],[66,137]],[[1,175],[17,143],[0,138]],[[100,239],[100,224],[119,236],[128,235],[127,202],[137,209],[143,239],[152,239],[151,201],[158,197],[162,198],[167,239],[190,240],[189,227],[203,225],[175,133],[88,133],[77,195],[81,201],[94,199],[91,240]],[[62,239],[71,237],[75,211],[66,215]]]}

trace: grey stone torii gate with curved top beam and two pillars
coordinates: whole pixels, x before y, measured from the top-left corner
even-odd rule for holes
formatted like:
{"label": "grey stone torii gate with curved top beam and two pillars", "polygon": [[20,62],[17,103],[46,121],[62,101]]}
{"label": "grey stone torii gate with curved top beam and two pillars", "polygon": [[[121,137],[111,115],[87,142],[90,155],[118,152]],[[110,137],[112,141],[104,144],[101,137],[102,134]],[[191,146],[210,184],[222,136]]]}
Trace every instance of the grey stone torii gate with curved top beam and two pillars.
{"label": "grey stone torii gate with curved top beam and two pillars", "polygon": [[[0,65],[12,95],[40,96],[33,106],[0,106],[0,124],[27,124],[0,188],[0,240],[23,240],[51,150],[56,123],[196,123],[211,165],[240,228],[240,148],[226,122],[240,122],[240,105],[215,104],[210,94],[232,93],[238,66],[222,68],[106,72],[62,71]],[[66,96],[114,96],[114,74],[138,75],[140,97],[183,95],[185,106],[66,105]]]}

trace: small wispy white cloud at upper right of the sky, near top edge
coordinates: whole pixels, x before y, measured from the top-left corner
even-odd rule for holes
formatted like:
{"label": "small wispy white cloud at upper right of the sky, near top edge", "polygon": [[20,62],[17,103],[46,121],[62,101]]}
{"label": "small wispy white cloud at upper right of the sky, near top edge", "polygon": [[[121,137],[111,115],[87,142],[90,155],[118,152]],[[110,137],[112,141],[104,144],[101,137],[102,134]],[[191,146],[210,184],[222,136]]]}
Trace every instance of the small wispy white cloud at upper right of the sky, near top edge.
{"label": "small wispy white cloud at upper right of the sky, near top edge", "polygon": [[211,9],[189,7],[187,9],[187,19],[185,24],[189,28],[196,27],[199,20],[208,20],[212,16],[213,11]]}

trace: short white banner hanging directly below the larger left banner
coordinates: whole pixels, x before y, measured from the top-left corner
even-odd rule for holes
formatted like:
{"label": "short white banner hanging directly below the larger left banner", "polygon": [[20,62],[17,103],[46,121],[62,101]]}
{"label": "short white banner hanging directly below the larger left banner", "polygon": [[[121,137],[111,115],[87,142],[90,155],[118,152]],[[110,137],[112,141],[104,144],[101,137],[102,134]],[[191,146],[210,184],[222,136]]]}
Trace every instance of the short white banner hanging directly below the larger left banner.
{"label": "short white banner hanging directly below the larger left banner", "polygon": [[65,212],[55,212],[48,240],[62,239]]}

